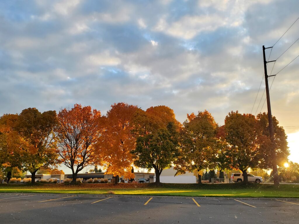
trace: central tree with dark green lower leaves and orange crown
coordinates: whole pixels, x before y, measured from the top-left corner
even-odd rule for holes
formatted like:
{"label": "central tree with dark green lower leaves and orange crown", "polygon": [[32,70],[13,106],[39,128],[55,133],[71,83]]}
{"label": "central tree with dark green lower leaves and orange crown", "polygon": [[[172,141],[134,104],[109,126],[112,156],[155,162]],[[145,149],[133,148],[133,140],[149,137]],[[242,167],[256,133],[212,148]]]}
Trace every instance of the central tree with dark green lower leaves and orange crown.
{"label": "central tree with dark green lower leaves and orange crown", "polygon": [[160,183],[160,174],[170,168],[178,156],[178,133],[180,123],[173,110],[166,106],[137,111],[134,116],[136,148],[131,153],[134,164],[148,170],[154,168],[156,183]]}

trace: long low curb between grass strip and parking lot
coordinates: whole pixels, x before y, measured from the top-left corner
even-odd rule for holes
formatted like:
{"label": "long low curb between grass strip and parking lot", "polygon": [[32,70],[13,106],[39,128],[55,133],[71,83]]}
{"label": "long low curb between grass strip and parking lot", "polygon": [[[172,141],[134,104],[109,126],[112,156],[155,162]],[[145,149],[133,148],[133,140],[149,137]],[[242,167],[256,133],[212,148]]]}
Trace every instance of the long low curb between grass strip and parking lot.
{"label": "long low curb between grass strip and parking lot", "polygon": [[125,195],[125,194],[55,194],[55,193],[0,193],[0,195],[45,195],[45,196],[77,196],[77,197],[133,197],[133,198],[196,198],[209,200],[299,200],[299,198],[267,198],[267,197],[195,197],[165,195]]}

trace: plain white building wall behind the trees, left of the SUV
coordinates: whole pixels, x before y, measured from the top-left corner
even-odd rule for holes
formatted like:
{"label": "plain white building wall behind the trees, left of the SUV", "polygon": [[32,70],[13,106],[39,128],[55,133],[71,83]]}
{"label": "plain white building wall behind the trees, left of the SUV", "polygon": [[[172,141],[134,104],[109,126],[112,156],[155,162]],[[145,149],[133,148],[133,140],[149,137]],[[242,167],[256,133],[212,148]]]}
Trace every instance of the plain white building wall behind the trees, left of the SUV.
{"label": "plain white building wall behind the trees, left of the SUV", "polygon": [[[176,184],[194,184],[196,183],[196,176],[193,173],[186,171],[185,174],[175,176],[176,170],[174,166],[169,169],[163,170],[160,174],[161,183],[176,183]],[[156,182],[156,174],[154,176]]]}

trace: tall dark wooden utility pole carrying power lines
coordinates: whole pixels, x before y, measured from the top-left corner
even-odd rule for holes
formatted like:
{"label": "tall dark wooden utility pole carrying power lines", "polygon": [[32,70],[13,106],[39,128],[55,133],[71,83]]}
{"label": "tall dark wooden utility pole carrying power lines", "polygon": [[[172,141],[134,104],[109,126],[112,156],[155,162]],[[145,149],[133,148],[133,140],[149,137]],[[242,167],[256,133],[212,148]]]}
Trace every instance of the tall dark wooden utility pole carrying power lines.
{"label": "tall dark wooden utility pole carrying power lines", "polygon": [[[272,122],[272,113],[271,113],[271,104],[270,104],[270,93],[269,93],[269,83],[268,83],[268,73],[267,73],[267,61],[265,50],[271,48],[266,47],[263,45],[263,56],[264,56],[264,69],[265,69],[265,82],[266,82],[266,94],[267,94],[267,106],[268,106],[268,120],[269,120],[269,132],[270,132],[270,139],[271,139],[271,159],[272,159],[272,169],[273,169],[273,180],[274,185],[279,185],[279,177],[278,177],[278,170],[277,170],[277,161],[276,161],[276,151],[275,151],[275,142],[274,142],[274,130],[273,130],[273,122]],[[275,61],[269,61],[275,62]],[[275,76],[275,75],[273,75]]]}

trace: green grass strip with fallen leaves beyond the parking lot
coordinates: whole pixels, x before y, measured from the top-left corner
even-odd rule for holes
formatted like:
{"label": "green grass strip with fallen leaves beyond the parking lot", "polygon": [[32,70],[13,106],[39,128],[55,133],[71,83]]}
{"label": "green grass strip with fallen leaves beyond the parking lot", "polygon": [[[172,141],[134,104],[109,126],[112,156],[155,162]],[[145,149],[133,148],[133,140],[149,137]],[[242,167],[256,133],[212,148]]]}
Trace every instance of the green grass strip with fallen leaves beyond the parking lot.
{"label": "green grass strip with fallen leaves beyond the parking lot", "polygon": [[126,195],[299,198],[299,185],[275,187],[263,184],[0,184],[0,193],[107,194],[108,191]]}

